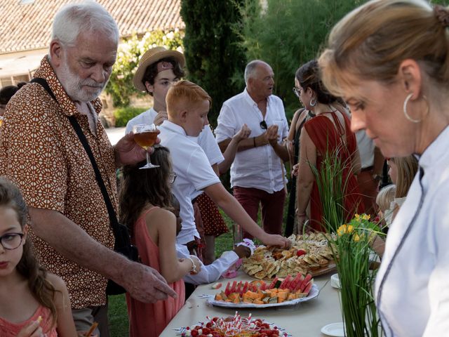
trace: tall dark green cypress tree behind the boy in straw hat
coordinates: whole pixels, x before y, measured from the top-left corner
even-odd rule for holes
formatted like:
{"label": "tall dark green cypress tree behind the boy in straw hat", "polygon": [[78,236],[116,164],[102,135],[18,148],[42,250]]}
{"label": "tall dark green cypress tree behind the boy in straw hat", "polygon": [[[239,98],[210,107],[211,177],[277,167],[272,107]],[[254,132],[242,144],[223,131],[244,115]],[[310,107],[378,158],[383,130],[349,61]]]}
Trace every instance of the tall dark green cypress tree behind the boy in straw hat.
{"label": "tall dark green cypress tree behind the boy in straw hat", "polygon": [[215,125],[222,103],[243,90],[232,80],[246,65],[243,46],[232,25],[240,22],[244,0],[182,0],[188,77],[213,98],[209,121]]}

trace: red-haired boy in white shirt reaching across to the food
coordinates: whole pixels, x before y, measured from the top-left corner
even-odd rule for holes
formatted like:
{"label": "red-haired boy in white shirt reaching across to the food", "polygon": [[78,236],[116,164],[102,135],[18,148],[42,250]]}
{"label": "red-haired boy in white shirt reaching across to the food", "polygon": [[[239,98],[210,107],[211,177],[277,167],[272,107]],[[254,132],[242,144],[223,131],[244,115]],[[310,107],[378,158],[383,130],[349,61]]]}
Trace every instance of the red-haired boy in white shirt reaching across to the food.
{"label": "red-haired boy in white shirt reaching across to the food", "polygon": [[239,202],[223,187],[210,167],[206,154],[188,136],[196,137],[208,125],[211,98],[201,87],[189,81],[180,81],[170,87],[166,96],[168,120],[161,124],[161,144],[168,147],[177,175],[173,194],[180,201],[182,230],[177,243],[186,244],[198,237],[190,196],[194,190],[204,190],[227,215],[240,223],[264,244],[288,246],[285,237],[267,234],[248,216]]}

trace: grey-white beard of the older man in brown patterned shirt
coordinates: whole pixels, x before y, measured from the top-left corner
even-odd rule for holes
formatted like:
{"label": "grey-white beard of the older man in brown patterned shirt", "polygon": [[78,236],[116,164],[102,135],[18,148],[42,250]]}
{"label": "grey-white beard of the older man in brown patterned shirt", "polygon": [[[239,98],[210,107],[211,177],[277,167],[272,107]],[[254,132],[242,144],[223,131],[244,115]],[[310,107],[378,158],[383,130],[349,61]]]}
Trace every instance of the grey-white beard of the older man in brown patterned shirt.
{"label": "grey-white beard of the older man in brown patterned shirt", "polygon": [[[107,80],[104,83],[98,83],[93,79],[80,79],[77,74],[74,74],[69,69],[67,58],[64,57],[60,66],[59,78],[62,87],[65,89],[69,98],[78,102],[90,102],[98,98],[101,91],[105,88]],[[95,91],[87,91],[83,86],[95,86]]]}

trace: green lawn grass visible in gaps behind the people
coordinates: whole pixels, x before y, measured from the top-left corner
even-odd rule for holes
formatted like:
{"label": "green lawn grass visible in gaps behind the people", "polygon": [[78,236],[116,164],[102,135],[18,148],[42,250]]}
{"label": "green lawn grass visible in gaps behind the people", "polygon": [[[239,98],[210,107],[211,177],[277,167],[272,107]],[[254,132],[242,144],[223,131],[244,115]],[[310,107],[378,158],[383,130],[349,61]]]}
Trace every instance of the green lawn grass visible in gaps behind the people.
{"label": "green lawn grass visible in gaps behind the people", "polygon": [[[286,219],[286,211],[288,206],[288,199],[286,199],[286,207],[284,209],[284,220]],[[232,250],[232,220],[224,213],[223,218],[229,232],[220,235],[215,239],[215,256],[220,256],[223,251]],[[260,215],[259,221],[260,223]],[[285,225],[285,223],[284,223]],[[128,314],[126,312],[125,295],[109,296],[109,330],[111,337],[128,337]]]}

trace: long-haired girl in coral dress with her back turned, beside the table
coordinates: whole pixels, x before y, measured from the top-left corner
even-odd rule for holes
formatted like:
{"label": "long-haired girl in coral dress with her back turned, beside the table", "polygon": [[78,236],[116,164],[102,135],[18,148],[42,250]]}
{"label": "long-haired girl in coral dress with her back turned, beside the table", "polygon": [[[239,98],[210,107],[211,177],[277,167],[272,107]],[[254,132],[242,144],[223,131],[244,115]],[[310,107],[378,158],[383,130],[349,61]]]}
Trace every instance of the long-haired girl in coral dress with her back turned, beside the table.
{"label": "long-haired girl in coral dress with her back turned, beside the table", "polygon": [[139,169],[145,163],[123,168],[120,186],[121,222],[131,231],[142,263],[161,273],[177,293],[177,298],[142,303],[126,294],[130,319],[130,337],[157,337],[185,302],[182,277],[199,272],[196,258],[176,257],[176,218],[171,209],[171,188],[176,176],[172,171],[170,152],[156,146],[151,155],[156,169]]}

